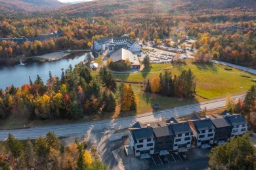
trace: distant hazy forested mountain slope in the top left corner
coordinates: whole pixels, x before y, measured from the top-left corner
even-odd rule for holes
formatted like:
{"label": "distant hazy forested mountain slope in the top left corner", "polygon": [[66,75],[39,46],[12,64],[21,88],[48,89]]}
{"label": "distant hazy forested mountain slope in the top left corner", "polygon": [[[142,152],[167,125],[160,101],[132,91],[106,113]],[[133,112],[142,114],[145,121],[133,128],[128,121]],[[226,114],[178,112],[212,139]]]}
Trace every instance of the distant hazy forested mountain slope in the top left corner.
{"label": "distant hazy forested mountain slope in the top left corner", "polygon": [[0,0],[0,10],[5,13],[33,12],[38,10],[56,9],[64,3],[57,0]]}

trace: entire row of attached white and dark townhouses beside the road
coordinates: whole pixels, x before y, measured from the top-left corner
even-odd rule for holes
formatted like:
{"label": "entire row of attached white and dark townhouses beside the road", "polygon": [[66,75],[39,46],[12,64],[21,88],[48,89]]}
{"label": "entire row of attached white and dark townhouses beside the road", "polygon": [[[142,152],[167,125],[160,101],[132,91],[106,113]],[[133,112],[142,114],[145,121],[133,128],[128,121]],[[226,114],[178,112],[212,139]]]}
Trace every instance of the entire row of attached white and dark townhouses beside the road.
{"label": "entire row of attached white and dark townhouses beside the road", "polygon": [[224,111],[200,118],[196,114],[186,121],[170,118],[167,122],[135,123],[129,128],[129,142],[133,155],[150,158],[151,154],[186,152],[193,143],[207,148],[211,144],[224,144],[231,137],[243,135],[248,124],[242,114]]}

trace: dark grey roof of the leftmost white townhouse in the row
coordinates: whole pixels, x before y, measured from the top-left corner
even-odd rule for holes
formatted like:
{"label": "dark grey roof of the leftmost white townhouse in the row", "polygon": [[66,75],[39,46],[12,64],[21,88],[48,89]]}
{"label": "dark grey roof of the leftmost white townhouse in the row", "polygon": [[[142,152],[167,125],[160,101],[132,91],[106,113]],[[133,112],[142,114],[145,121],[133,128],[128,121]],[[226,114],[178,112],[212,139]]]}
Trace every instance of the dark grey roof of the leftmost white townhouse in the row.
{"label": "dark grey roof of the leftmost white townhouse in the row", "polygon": [[154,138],[152,127],[144,127],[141,129],[131,129],[131,133],[133,134],[135,141]]}

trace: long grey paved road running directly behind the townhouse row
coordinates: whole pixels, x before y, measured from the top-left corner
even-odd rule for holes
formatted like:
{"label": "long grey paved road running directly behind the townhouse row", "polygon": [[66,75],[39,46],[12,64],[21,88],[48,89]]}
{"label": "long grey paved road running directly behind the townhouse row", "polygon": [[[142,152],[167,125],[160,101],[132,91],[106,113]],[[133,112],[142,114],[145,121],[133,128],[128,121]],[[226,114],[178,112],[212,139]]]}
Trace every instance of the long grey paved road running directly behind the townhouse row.
{"label": "long grey paved road running directly behind the townhouse row", "polygon": [[[244,98],[244,95],[236,95],[234,98]],[[135,122],[140,121],[144,124],[148,122],[154,122],[157,120],[171,118],[172,116],[185,116],[191,114],[194,110],[198,111],[203,108],[207,110],[219,109],[225,107],[225,98],[216,99],[212,101],[205,101],[202,103],[196,103],[192,105],[184,105],[181,107],[175,107],[172,109],[160,110],[158,112],[148,112],[140,114],[138,116],[129,116],[125,118],[117,118],[112,120],[100,120],[93,122],[85,122],[79,124],[65,124],[58,126],[43,126],[33,127],[30,129],[10,129],[0,131],[0,141],[7,139],[9,133],[12,133],[16,139],[36,139],[37,137],[45,136],[48,131],[54,131],[54,133],[60,136],[72,135],[75,133],[90,133],[91,131],[100,129],[123,129],[131,127]]]}

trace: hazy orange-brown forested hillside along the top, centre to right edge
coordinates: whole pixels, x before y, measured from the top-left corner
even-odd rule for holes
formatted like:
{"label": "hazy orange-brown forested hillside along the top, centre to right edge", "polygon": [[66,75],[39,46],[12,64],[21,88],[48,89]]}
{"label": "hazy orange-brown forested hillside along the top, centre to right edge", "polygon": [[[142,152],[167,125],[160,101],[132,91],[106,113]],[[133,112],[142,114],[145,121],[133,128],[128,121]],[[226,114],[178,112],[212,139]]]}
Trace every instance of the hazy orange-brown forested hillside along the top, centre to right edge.
{"label": "hazy orange-brown forested hillside along the top, centre to right edge", "polygon": [[69,16],[104,16],[121,20],[150,20],[156,17],[172,18],[179,16],[181,20],[255,20],[256,1],[239,0],[133,0],[133,1],[91,1],[58,9]]}

